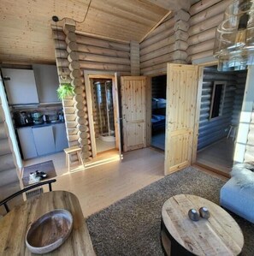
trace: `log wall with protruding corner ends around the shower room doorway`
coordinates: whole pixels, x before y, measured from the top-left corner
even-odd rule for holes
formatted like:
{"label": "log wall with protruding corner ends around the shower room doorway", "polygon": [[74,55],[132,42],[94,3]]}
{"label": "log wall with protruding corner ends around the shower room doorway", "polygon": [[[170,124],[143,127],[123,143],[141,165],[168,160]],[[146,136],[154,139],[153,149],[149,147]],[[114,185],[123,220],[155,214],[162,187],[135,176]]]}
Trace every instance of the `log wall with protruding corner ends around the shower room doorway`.
{"label": "log wall with protruding corner ends around the shower room doorway", "polygon": [[[76,33],[75,27],[71,23],[66,23],[63,28],[53,27],[52,36],[55,40],[59,80],[62,83],[71,82],[75,87],[74,97],[66,98],[62,102],[68,145],[80,145],[82,147],[82,157],[86,163],[92,157],[92,146],[86,105],[84,70],[101,71],[102,74],[105,71],[113,71],[120,75],[130,75],[130,44]],[[135,46],[133,49],[138,51]],[[137,58],[133,57],[133,63],[137,64]],[[133,70],[137,71],[137,68]],[[72,157],[72,162],[76,160],[76,156]]]}

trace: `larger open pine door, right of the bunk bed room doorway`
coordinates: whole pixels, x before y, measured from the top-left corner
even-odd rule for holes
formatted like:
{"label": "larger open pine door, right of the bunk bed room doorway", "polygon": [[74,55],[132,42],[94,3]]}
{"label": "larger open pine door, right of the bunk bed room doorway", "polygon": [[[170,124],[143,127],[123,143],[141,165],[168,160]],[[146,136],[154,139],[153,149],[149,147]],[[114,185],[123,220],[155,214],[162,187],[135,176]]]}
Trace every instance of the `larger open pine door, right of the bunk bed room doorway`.
{"label": "larger open pine door, right of the bunk bed room doorway", "polygon": [[198,66],[168,63],[165,175],[192,164],[197,92]]}

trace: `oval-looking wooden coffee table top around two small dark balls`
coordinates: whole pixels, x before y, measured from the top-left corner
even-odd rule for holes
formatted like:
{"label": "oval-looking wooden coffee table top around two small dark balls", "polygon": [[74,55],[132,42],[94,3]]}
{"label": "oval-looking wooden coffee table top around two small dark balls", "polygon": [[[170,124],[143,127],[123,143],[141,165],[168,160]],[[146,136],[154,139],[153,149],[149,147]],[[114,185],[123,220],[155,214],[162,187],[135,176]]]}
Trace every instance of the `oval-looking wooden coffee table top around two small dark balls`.
{"label": "oval-looking wooden coffee table top around two small dark balls", "polygon": [[[205,206],[210,218],[197,222],[188,211]],[[175,241],[196,255],[238,255],[244,246],[244,236],[227,211],[208,199],[192,194],[178,194],[162,206],[162,221]]]}

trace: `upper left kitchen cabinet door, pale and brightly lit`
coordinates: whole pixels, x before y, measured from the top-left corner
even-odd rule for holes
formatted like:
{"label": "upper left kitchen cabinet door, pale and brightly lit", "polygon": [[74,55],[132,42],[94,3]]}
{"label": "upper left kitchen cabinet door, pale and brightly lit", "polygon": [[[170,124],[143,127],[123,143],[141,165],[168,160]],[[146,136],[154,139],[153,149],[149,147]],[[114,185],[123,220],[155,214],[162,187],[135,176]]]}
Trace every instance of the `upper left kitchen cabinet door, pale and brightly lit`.
{"label": "upper left kitchen cabinet door, pale and brightly lit", "polygon": [[4,81],[9,104],[38,104],[33,70],[2,68],[2,72],[10,79]]}

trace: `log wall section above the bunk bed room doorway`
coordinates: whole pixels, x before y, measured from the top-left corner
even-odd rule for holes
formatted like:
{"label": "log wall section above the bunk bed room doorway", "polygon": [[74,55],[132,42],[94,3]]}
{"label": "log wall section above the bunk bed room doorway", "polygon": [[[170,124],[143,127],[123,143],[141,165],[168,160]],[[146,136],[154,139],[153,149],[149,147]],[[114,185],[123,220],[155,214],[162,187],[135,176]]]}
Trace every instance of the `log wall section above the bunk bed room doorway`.
{"label": "log wall section above the bunk bed room doorway", "polygon": [[141,74],[166,74],[167,63],[186,63],[189,18],[184,10],[169,15],[140,43]]}

